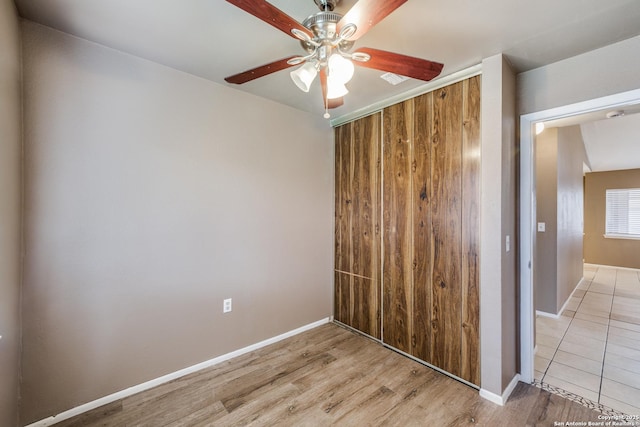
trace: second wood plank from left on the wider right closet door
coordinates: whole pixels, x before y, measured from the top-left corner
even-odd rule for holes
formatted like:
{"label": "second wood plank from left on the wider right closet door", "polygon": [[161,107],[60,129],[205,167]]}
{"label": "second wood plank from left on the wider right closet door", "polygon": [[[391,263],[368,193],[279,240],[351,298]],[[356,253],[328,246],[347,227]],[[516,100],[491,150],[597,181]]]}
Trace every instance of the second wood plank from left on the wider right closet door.
{"label": "second wood plank from left on the wider right closet door", "polygon": [[413,351],[431,363],[431,128],[433,93],[414,100],[413,118]]}

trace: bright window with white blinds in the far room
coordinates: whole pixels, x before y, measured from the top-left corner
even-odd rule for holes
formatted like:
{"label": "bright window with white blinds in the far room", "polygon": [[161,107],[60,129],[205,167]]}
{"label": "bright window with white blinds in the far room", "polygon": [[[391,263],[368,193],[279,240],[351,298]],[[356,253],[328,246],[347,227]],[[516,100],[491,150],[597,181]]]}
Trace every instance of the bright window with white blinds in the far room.
{"label": "bright window with white blinds in the far room", "polygon": [[640,188],[607,190],[605,237],[640,239]]}

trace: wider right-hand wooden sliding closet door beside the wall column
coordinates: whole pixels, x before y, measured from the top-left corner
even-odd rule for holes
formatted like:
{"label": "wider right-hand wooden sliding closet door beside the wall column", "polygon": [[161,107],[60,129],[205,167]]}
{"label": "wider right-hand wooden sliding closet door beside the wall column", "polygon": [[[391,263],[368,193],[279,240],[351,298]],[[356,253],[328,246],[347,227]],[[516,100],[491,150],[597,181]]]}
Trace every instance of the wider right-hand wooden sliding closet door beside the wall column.
{"label": "wider right-hand wooden sliding closet door beside the wall column", "polygon": [[480,77],[383,112],[383,341],[479,384]]}

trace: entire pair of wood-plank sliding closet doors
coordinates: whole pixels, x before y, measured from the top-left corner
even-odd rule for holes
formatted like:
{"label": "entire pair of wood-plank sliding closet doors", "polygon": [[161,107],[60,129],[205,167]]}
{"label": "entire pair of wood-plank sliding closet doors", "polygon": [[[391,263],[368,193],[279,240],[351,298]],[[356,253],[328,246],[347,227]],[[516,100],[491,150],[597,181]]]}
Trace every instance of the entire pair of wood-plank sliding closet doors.
{"label": "entire pair of wood-plank sliding closet doors", "polygon": [[336,320],[479,385],[480,77],[335,137]]}

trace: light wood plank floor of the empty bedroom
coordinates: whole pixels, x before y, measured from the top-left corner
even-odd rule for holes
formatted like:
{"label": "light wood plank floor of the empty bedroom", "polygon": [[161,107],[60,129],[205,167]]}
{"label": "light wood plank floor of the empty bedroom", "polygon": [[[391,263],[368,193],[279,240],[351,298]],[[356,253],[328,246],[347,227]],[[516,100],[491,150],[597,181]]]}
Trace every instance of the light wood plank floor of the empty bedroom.
{"label": "light wood plank floor of the empty bedroom", "polygon": [[553,426],[598,415],[523,383],[500,407],[327,324],[56,426]]}

